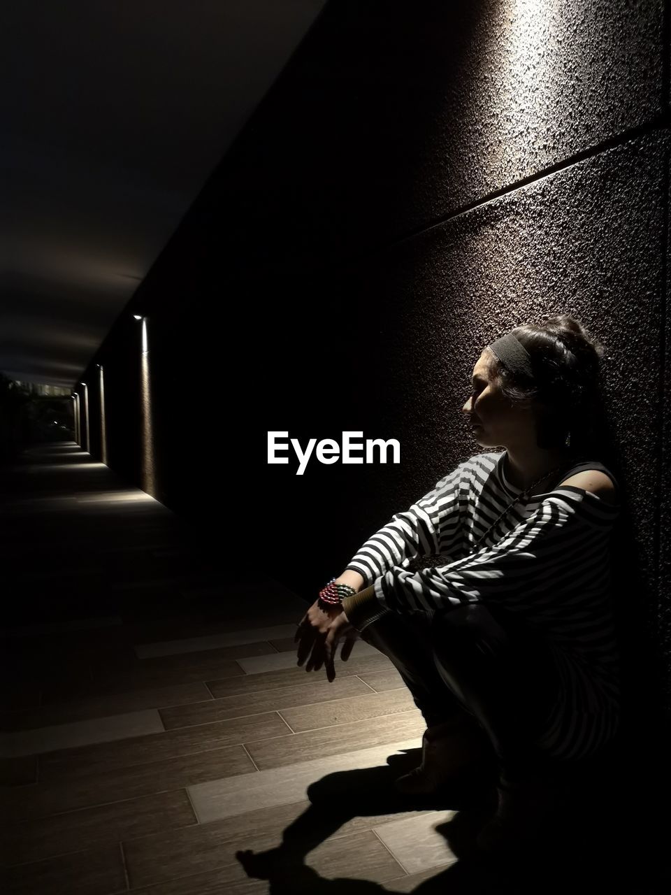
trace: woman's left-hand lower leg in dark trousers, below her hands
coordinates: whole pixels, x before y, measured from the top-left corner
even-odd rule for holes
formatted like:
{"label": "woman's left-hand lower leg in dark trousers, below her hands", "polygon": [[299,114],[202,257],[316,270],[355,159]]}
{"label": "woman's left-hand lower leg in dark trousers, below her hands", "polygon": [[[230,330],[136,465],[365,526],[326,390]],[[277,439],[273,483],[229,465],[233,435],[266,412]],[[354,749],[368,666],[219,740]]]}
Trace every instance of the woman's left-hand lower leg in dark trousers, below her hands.
{"label": "woman's left-hand lower leg in dark trousers, below her hands", "polygon": [[431,622],[424,613],[401,618],[395,612],[387,612],[361,631],[361,639],[394,663],[427,727],[455,715],[468,717],[438,673],[431,654]]}

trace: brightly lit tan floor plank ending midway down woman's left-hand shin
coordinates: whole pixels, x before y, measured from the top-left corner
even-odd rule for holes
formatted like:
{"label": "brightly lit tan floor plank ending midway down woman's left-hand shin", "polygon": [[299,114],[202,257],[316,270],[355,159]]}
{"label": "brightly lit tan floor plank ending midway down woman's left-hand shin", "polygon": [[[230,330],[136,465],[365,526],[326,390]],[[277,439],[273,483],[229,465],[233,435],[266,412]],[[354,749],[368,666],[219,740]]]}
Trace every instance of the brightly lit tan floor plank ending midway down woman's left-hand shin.
{"label": "brightly lit tan floor plank ending midway down woman's left-hand shin", "polygon": [[389,690],[388,693],[369,691],[349,698],[329,699],[293,708],[280,709],[278,706],[280,715],[296,733],[331,727],[335,724],[348,724],[350,721],[378,719],[382,715],[410,712],[412,709],[416,710],[417,707],[407,687],[402,690]]}

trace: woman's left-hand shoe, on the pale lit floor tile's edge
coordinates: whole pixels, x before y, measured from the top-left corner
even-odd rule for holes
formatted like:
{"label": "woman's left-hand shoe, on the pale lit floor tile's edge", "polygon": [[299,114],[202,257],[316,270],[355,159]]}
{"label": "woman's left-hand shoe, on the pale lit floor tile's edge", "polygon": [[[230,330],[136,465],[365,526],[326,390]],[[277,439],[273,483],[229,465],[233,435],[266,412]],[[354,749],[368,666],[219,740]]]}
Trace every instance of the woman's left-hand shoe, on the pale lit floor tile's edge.
{"label": "woman's left-hand shoe, on the pale lit floor tile's edge", "polygon": [[421,763],[394,781],[403,795],[429,795],[492,756],[488,737],[463,720],[429,727],[421,737]]}

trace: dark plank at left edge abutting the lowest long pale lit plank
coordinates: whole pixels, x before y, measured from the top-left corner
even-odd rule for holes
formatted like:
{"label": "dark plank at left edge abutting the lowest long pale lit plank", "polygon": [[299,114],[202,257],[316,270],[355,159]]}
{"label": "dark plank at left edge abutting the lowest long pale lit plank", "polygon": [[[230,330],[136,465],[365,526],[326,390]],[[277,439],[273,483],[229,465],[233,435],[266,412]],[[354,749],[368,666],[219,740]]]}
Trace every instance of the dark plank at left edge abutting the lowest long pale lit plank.
{"label": "dark plank at left edge abutting the lowest long pale lit plank", "polygon": [[185,789],[8,825],[3,864],[12,866],[195,824]]}

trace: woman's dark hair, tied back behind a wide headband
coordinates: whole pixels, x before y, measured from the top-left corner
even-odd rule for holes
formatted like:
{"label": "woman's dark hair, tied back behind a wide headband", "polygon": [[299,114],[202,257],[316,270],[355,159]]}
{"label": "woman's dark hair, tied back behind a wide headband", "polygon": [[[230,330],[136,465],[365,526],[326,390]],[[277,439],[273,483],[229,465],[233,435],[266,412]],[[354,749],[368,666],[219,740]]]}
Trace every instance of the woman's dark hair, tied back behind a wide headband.
{"label": "woman's dark hair, tied back behind a wide headband", "polygon": [[511,404],[535,399],[538,447],[589,451],[598,436],[601,413],[601,358],[606,348],[570,314],[511,330],[531,355],[534,382],[511,373],[490,352],[490,374]]}

